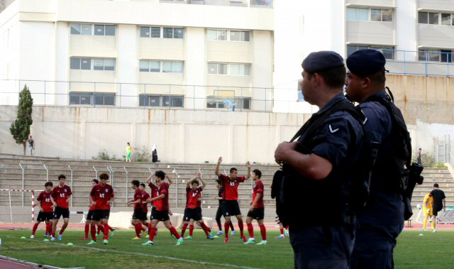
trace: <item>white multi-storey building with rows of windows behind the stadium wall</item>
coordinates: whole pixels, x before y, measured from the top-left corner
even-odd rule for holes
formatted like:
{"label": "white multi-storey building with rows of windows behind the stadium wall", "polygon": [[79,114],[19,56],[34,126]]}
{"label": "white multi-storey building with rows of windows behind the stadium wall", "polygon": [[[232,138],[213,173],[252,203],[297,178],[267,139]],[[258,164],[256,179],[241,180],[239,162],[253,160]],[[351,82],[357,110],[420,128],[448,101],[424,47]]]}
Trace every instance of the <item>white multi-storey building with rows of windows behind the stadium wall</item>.
{"label": "white multi-storey building with rows of windows behind the stadium wall", "polygon": [[28,84],[35,104],[311,113],[297,88],[316,50],[454,75],[454,0],[3,2],[1,104]]}

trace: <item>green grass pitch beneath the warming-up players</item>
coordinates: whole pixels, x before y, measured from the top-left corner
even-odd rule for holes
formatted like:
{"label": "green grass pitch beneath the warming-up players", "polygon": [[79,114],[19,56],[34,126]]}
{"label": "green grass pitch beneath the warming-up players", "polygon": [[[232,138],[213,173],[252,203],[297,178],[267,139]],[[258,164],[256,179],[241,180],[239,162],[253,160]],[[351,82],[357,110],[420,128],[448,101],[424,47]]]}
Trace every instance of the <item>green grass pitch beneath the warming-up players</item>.
{"label": "green grass pitch beneath the warming-up players", "polygon": [[[141,246],[144,240],[131,240],[131,231],[118,231],[109,245],[87,246],[82,231],[65,231],[61,243],[43,241],[43,231],[29,239],[30,231],[0,231],[0,255],[59,267],[84,268],[292,268],[292,248],[288,239],[275,239],[277,231],[268,232],[267,246],[243,246],[238,234],[228,244],[221,238],[209,241],[202,231],[194,239],[175,246],[175,238],[161,229],[155,246]],[[26,236],[27,239],[21,239]],[[260,234],[256,232],[256,236]],[[74,246],[66,246],[66,243]],[[99,241],[101,242],[101,241]],[[454,231],[404,231],[394,255],[396,268],[453,268]]]}

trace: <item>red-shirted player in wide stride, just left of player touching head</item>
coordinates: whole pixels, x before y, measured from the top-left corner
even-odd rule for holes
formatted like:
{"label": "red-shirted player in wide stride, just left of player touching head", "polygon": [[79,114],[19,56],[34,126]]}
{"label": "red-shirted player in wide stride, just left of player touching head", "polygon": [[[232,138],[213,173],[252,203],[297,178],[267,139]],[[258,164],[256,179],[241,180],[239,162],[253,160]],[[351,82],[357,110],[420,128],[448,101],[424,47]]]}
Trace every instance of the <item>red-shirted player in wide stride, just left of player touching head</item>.
{"label": "red-shirted player in wide stride, just left of player touching head", "polygon": [[163,221],[165,228],[170,230],[170,233],[177,238],[177,246],[183,243],[183,238],[179,236],[177,230],[170,222],[169,217],[169,184],[164,182],[165,178],[172,182],[172,179],[165,174],[162,170],[155,172],[156,184],[157,184],[157,197],[149,198],[147,203],[158,201],[153,220],[151,221],[150,239],[148,242],[143,243],[144,246],[153,246],[153,238],[156,235],[156,226],[159,221]]}

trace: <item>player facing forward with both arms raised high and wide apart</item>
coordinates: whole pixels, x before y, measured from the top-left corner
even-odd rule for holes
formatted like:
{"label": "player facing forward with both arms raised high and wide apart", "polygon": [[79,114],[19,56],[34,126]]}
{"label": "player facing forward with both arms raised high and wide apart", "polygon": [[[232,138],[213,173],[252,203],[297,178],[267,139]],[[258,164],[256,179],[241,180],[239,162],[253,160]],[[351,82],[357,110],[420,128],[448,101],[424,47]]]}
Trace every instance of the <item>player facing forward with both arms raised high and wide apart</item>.
{"label": "player facing forward with both arms raised high and wide apart", "polygon": [[218,159],[218,165],[216,165],[216,175],[222,180],[223,194],[222,198],[225,200],[222,205],[223,214],[226,218],[224,229],[226,230],[226,239],[224,243],[228,243],[228,227],[230,226],[231,216],[236,216],[238,219],[238,227],[240,228],[241,238],[243,241],[248,241],[243,233],[243,216],[240,212],[240,206],[238,205],[238,186],[241,182],[244,182],[250,177],[250,163],[246,163],[248,166],[248,175],[245,177],[238,177],[238,170],[236,168],[230,169],[230,176],[223,175],[219,172],[219,165],[222,163],[222,157]]}

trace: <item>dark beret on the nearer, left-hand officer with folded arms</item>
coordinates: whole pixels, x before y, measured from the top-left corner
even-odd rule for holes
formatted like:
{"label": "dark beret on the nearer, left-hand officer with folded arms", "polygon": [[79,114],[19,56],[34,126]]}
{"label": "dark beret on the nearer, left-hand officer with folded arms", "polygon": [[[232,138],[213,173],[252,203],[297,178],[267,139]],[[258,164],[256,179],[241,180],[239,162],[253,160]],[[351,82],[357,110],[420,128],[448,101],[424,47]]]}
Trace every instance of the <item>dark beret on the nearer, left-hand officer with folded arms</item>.
{"label": "dark beret on the nearer, left-hand officer with folded arms", "polygon": [[343,66],[343,58],[338,53],[329,50],[317,51],[310,53],[304,59],[301,67],[309,73],[320,72],[335,67]]}

